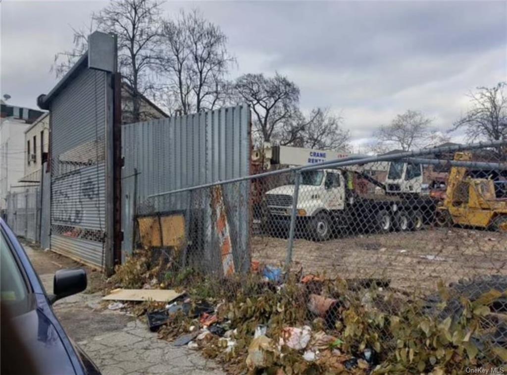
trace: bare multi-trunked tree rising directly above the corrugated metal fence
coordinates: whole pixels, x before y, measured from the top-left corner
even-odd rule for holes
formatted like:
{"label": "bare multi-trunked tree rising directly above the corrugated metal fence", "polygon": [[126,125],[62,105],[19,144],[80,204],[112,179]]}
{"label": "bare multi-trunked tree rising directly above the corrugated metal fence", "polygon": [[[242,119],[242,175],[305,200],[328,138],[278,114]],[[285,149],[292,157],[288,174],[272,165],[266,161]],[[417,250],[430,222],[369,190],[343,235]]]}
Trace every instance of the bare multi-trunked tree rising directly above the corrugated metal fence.
{"label": "bare multi-trunked tree rising directly above the corrugated metal fence", "polygon": [[161,28],[159,63],[177,109],[183,114],[213,109],[230,92],[225,80],[235,59],[219,26],[194,10]]}

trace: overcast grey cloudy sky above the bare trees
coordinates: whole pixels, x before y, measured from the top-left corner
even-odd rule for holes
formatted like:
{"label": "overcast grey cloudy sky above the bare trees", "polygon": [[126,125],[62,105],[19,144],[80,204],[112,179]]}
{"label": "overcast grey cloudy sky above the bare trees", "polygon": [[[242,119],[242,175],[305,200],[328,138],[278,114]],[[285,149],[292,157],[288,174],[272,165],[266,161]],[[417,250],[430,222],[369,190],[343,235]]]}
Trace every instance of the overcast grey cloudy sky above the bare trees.
{"label": "overcast grey cloudy sky above the bare trees", "polygon": [[[1,91],[36,108],[56,83],[50,66],[102,1],[11,1],[1,8]],[[466,93],[507,78],[507,2],[168,2],[199,8],[229,37],[242,73],[275,71],[301,89],[301,107],[345,118],[354,145],[407,109],[449,128]],[[456,138],[459,140],[459,135]]]}

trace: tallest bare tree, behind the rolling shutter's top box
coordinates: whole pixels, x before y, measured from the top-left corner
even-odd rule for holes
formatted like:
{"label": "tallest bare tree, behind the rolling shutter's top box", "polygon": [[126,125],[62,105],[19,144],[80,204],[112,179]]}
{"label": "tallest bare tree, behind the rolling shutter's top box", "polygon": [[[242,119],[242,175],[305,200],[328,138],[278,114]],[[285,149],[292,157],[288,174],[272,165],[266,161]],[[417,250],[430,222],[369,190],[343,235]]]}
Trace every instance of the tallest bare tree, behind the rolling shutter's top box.
{"label": "tallest bare tree, behind the rolling shutter's top box", "polygon": [[[141,118],[142,95],[153,88],[151,75],[157,57],[160,5],[156,0],[112,0],[104,9],[92,14],[90,29],[118,36],[118,63],[123,79],[132,89],[132,105],[127,110],[133,121]],[[66,73],[86,52],[86,35],[83,30],[75,29],[74,48],[55,56],[53,70],[57,76]]]}

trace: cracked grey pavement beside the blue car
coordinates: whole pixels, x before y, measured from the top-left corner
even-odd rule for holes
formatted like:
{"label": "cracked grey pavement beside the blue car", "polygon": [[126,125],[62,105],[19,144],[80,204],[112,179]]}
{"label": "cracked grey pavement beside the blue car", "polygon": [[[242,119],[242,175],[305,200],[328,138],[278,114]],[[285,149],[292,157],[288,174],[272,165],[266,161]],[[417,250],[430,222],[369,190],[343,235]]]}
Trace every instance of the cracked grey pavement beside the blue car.
{"label": "cracked grey pavement beside the blue car", "polygon": [[[54,253],[23,246],[48,292],[53,290],[55,271],[81,266]],[[224,374],[218,364],[199,352],[159,340],[145,322],[123,312],[103,310],[100,301],[100,293],[85,292],[55,302],[53,310],[69,337],[102,374]]]}

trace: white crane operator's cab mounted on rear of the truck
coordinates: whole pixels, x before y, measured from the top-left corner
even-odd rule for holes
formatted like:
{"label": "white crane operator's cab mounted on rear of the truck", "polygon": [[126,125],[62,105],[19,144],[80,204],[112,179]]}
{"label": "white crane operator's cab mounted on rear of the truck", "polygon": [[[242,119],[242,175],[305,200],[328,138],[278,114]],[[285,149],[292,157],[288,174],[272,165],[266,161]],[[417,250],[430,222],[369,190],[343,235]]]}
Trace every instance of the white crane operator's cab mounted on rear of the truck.
{"label": "white crane operator's cab mounted on rear of the truck", "polygon": [[421,193],[422,191],[422,165],[391,161],[387,169],[385,191],[391,194]]}

